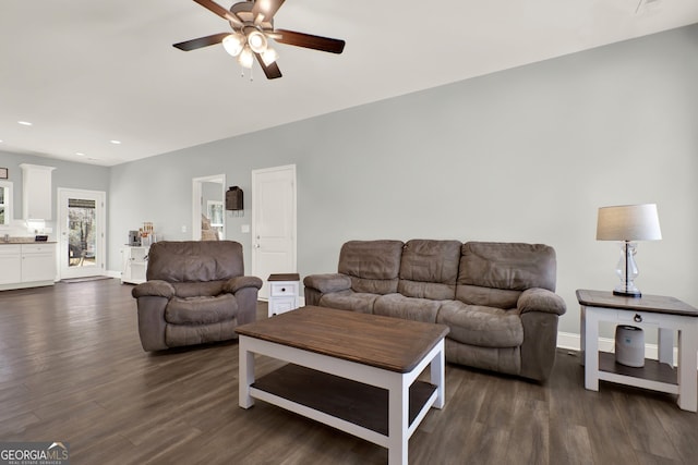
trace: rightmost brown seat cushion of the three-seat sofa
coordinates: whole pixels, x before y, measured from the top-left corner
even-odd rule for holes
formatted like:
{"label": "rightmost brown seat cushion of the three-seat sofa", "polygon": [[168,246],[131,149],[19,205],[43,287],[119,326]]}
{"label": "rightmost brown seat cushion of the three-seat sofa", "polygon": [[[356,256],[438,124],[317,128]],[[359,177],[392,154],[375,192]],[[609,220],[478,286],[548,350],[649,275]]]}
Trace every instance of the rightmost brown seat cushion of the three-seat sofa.
{"label": "rightmost brown seat cushion of the three-seat sofa", "polygon": [[502,309],[446,301],[436,322],[450,328],[448,338],[482,347],[516,347],[524,343],[524,326],[516,308]]}

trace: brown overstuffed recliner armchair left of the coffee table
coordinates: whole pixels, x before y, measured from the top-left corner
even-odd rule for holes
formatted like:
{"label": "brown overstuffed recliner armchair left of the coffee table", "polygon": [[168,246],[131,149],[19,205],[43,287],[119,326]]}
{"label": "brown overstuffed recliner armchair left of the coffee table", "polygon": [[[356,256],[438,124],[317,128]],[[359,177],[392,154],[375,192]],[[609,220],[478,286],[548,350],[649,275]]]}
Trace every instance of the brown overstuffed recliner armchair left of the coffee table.
{"label": "brown overstuffed recliner armchair left of the coffee table", "polygon": [[237,339],[256,319],[262,280],[244,276],[237,242],[157,242],[146,278],[132,291],[144,351]]}

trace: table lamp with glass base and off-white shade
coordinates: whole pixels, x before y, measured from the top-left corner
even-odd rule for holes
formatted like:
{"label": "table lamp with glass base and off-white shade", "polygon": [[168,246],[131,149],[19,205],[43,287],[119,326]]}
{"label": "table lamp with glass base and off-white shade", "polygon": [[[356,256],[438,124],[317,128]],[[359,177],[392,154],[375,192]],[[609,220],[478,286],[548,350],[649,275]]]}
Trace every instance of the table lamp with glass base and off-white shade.
{"label": "table lamp with glass base and off-white shade", "polygon": [[633,241],[659,241],[662,232],[655,204],[618,205],[599,208],[597,241],[621,241],[621,259],[616,273],[621,284],[614,295],[641,297],[634,280],[639,274],[635,262],[636,244]]}

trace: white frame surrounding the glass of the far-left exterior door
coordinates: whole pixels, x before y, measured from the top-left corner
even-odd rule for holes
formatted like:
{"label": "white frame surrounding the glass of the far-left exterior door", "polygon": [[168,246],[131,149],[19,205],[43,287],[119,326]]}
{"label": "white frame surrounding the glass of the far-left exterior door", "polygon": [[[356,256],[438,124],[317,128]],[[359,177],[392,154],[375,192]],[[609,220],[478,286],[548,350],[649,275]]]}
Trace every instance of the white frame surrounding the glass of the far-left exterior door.
{"label": "white frame surrounding the glass of the far-left exterior door", "polygon": [[[65,197],[64,197],[65,196]],[[56,254],[56,270],[58,273],[58,279],[68,279],[68,278],[79,278],[80,276],[70,276],[72,273],[65,273],[63,269],[63,264],[68,262],[68,203],[63,206],[63,198],[68,200],[68,196],[71,197],[80,197],[80,196],[89,196],[89,198],[95,198],[96,201],[96,220],[97,220],[97,240],[95,241],[95,245],[97,246],[97,250],[95,254],[95,265],[96,267],[86,268],[89,270],[95,270],[95,273],[86,273],[85,276],[95,276],[95,274],[106,274],[107,268],[107,193],[105,191],[87,191],[81,188],[68,188],[68,187],[58,187],[57,188],[57,197],[58,197],[58,206],[56,208],[56,236],[58,240],[58,253]]]}

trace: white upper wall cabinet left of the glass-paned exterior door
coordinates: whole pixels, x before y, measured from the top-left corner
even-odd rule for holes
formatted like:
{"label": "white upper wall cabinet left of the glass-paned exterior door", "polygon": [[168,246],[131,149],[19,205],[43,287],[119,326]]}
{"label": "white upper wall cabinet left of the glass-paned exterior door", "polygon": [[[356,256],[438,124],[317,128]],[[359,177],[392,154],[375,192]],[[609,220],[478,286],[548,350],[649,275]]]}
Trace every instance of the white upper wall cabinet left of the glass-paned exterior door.
{"label": "white upper wall cabinet left of the glass-paned exterior door", "polygon": [[22,215],[25,220],[50,220],[53,167],[20,164],[22,168]]}

